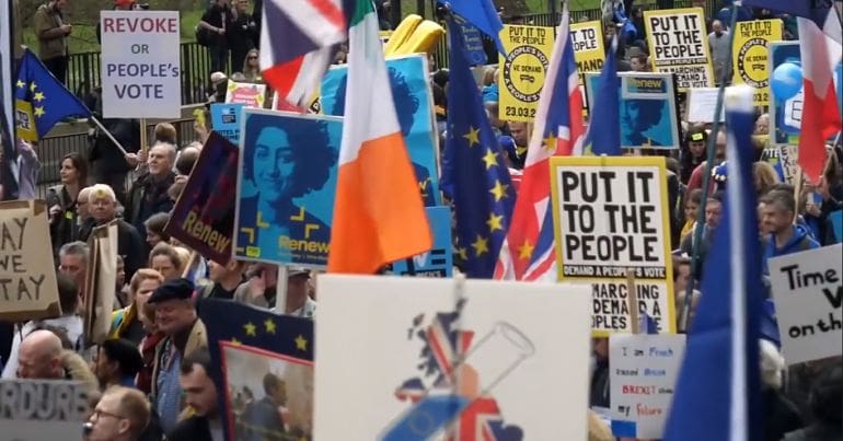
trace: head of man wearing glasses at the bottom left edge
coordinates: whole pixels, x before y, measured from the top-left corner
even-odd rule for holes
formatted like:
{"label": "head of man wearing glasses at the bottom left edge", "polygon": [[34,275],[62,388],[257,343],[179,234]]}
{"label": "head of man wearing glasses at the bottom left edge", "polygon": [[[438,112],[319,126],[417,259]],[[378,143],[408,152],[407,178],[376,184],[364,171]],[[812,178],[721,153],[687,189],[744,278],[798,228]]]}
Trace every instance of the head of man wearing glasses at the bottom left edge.
{"label": "head of man wearing glasses at the bottom left edge", "polygon": [[150,420],[143,393],[124,386],[107,388],[85,423],[88,441],[140,440]]}

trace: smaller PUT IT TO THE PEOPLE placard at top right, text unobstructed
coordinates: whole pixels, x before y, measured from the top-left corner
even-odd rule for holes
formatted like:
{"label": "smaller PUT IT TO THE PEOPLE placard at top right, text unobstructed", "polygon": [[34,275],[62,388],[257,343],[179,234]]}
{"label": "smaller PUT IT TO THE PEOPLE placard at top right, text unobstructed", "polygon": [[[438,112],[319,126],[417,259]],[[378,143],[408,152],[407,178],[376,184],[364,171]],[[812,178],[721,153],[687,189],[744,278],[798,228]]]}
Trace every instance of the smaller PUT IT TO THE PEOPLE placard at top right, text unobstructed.
{"label": "smaller PUT IT TO THE PEOPLE placard at top right, text unobstructed", "polygon": [[680,91],[714,88],[702,8],[644,11],[654,72],[677,74]]}

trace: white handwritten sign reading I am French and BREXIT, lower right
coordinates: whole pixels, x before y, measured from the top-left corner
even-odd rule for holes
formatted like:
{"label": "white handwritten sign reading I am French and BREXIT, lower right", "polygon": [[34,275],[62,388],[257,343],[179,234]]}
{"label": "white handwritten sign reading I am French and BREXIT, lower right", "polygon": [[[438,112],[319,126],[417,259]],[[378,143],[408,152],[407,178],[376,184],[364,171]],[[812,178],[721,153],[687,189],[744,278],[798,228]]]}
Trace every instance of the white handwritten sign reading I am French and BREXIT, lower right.
{"label": "white handwritten sign reading I am French and BREXIT, lower right", "polygon": [[609,337],[615,437],[661,438],[684,351],[684,335]]}

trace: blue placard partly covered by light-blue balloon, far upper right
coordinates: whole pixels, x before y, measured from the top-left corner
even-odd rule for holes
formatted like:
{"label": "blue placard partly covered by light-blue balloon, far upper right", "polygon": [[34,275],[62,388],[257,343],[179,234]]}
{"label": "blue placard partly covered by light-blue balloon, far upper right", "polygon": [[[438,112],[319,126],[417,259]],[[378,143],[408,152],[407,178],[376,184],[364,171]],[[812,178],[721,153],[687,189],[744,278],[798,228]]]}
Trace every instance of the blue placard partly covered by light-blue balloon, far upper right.
{"label": "blue placard partly covered by light-blue balloon, far upper right", "polygon": [[[798,42],[771,42],[770,69],[772,77],[775,68],[787,61],[800,62],[800,50]],[[834,89],[838,94],[838,105],[843,114],[843,63],[834,69]],[[799,143],[799,132],[801,130],[802,115],[802,91],[789,100],[782,100],[776,96],[775,89],[770,88],[770,144],[771,146],[796,146]]]}

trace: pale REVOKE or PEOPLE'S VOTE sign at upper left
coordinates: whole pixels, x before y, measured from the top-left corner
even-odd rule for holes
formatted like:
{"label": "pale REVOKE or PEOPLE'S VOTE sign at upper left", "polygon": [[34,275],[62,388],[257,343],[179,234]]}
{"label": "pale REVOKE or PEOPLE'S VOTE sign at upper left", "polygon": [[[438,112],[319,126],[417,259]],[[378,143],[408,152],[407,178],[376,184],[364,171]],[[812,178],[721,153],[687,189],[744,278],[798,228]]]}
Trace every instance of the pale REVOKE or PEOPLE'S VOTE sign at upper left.
{"label": "pale REVOKE or PEOPLE'S VOTE sign at upper left", "polygon": [[103,115],[182,115],[178,11],[102,11]]}

